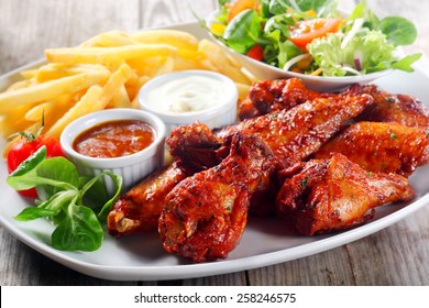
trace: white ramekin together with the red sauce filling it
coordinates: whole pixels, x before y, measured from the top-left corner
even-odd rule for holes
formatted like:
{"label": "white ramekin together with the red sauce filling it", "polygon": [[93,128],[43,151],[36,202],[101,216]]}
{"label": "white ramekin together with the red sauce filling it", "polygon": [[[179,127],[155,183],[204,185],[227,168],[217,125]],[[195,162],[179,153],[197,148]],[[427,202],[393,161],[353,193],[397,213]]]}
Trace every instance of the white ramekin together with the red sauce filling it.
{"label": "white ramekin together with the red sauce filling it", "polygon": [[[108,109],[69,123],[59,142],[80,174],[112,172],[122,177],[125,191],[164,165],[165,131],[163,121],[152,113]],[[110,177],[103,180],[107,191],[113,193]]]}

